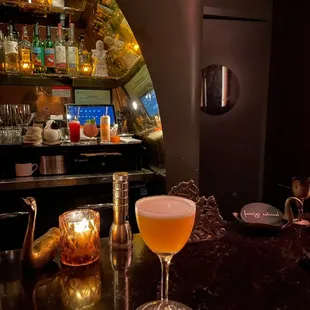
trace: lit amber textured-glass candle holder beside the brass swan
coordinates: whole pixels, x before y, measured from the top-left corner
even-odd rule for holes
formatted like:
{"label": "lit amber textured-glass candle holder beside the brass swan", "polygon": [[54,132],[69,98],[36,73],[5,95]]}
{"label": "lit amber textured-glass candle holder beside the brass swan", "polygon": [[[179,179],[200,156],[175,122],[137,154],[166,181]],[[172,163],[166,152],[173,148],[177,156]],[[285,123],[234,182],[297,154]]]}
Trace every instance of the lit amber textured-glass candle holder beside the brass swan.
{"label": "lit amber textured-glass candle holder beside the brass swan", "polygon": [[65,212],[59,217],[60,259],[65,265],[88,265],[100,255],[100,215],[93,210]]}

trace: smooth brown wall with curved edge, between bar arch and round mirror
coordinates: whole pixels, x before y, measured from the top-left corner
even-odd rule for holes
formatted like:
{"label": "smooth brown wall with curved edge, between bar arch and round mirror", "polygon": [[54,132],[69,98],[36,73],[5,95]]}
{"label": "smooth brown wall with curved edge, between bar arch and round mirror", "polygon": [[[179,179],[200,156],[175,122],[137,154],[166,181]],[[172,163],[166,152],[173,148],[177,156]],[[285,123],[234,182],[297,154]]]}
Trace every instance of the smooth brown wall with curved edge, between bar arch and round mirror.
{"label": "smooth brown wall with curved edge, between bar arch and round mirror", "polygon": [[167,189],[199,180],[200,0],[118,0],[150,71],[162,118]]}

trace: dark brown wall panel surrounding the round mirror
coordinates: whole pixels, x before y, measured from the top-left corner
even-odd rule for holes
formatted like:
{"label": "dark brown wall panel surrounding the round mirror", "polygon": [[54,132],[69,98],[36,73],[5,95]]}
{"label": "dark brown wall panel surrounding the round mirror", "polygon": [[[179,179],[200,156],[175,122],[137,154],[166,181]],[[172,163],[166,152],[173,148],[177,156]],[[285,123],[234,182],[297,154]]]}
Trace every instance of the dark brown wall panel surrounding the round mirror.
{"label": "dark brown wall panel surrounding the round mirror", "polygon": [[204,8],[202,62],[227,66],[238,80],[239,97],[223,115],[200,112],[200,187],[204,195],[215,195],[228,216],[262,199],[271,36],[264,10],[270,13],[271,5],[261,12],[253,6],[250,14],[240,1],[230,7],[224,2]]}

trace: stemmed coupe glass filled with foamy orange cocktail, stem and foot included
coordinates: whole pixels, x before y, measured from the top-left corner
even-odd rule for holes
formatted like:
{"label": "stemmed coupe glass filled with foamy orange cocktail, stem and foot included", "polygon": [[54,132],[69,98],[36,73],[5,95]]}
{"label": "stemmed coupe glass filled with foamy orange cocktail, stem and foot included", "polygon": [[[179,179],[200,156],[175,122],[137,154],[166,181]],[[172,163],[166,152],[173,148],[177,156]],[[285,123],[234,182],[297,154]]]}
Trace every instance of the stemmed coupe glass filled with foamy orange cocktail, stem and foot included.
{"label": "stemmed coupe glass filled with foamy orange cocktail, stem and foot included", "polygon": [[168,300],[169,266],[174,254],[188,241],[195,222],[196,204],[176,196],[152,196],[136,202],[140,234],[161,262],[161,300],[148,302],[137,310],[188,310]]}

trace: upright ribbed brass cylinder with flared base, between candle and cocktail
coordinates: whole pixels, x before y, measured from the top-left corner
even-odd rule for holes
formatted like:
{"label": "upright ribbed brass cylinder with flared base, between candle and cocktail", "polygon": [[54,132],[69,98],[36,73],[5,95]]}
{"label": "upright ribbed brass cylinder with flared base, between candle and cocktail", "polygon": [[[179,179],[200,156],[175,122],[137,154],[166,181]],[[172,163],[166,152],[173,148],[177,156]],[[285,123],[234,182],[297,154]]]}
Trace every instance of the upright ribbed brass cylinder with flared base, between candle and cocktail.
{"label": "upright ribbed brass cylinder with flared base, between candle and cocktail", "polygon": [[110,228],[109,243],[112,249],[132,247],[132,232],[128,216],[128,173],[113,174],[113,224]]}

